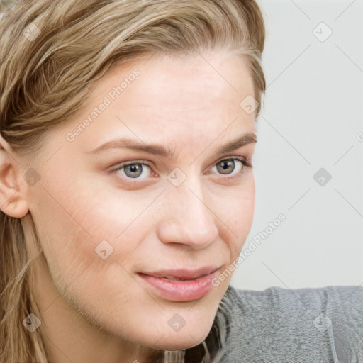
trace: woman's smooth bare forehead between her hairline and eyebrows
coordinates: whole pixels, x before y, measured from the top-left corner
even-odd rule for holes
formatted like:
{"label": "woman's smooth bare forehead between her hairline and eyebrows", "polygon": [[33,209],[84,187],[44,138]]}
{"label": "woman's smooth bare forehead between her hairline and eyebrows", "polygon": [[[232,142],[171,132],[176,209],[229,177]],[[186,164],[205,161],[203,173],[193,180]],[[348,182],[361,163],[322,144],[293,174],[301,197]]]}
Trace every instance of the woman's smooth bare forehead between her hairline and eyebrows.
{"label": "woman's smooth bare forehead between her hairline and eyebrows", "polygon": [[[135,74],[137,76],[135,77]],[[113,67],[92,87],[91,97],[69,130],[101,104],[81,135],[87,151],[113,138],[177,147],[221,142],[253,133],[255,116],[240,107],[254,91],[250,73],[235,55],[176,58],[153,55]],[[105,102],[105,100],[108,100]]]}

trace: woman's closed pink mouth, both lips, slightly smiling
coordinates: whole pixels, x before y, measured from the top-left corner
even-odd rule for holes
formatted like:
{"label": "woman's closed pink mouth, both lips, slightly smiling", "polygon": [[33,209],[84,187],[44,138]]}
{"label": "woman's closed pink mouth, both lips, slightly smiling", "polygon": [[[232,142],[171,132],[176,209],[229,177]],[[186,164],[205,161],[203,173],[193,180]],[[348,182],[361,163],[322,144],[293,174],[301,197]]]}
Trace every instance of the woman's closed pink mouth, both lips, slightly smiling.
{"label": "woman's closed pink mouth, both lips, slightly smiling", "polygon": [[219,268],[208,266],[197,270],[169,269],[139,272],[138,276],[147,283],[147,287],[166,300],[194,301],[213,289],[211,281]]}

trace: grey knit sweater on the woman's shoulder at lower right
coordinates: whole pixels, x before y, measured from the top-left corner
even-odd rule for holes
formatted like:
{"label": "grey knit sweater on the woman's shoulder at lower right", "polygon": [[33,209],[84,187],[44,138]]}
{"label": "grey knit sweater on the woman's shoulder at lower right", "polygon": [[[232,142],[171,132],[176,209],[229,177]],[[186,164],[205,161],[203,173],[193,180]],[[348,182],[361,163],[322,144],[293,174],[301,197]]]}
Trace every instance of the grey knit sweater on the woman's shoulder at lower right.
{"label": "grey knit sweater on the woman's shoulder at lower right", "polygon": [[363,286],[229,286],[223,301],[230,316],[215,362],[363,363]]}

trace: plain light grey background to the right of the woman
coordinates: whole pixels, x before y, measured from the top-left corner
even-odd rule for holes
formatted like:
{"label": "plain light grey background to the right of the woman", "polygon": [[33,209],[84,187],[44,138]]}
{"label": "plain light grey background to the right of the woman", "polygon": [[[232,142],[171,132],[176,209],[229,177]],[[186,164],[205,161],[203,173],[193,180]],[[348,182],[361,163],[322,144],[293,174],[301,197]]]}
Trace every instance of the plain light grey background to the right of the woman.
{"label": "plain light grey background to the right of the woman", "polygon": [[[280,213],[286,220],[240,263],[232,284],[362,284],[363,1],[258,3],[267,26],[267,93],[257,123],[255,220],[245,247]],[[328,35],[328,28],[316,28],[321,22],[333,31],[325,41],[314,35]],[[332,175],[325,186],[313,179],[322,167]]]}

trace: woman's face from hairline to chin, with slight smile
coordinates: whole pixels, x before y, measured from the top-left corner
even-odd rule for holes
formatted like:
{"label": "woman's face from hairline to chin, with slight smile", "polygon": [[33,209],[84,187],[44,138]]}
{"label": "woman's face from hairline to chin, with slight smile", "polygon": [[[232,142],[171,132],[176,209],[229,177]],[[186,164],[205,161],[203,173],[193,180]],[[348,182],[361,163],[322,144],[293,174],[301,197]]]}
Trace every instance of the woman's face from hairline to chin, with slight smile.
{"label": "woman's face from hairline to chin, with slight smile", "polygon": [[[52,281],[79,316],[120,340],[193,347],[231,275],[216,287],[211,279],[238,257],[252,225],[255,114],[240,106],[252,79],[225,53],[149,55],[91,91],[79,116],[47,133],[32,165],[40,179],[28,208],[49,268],[38,276],[48,311]],[[240,138],[245,145],[221,150]]]}

